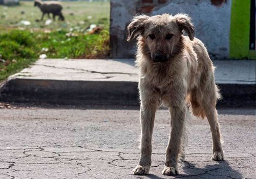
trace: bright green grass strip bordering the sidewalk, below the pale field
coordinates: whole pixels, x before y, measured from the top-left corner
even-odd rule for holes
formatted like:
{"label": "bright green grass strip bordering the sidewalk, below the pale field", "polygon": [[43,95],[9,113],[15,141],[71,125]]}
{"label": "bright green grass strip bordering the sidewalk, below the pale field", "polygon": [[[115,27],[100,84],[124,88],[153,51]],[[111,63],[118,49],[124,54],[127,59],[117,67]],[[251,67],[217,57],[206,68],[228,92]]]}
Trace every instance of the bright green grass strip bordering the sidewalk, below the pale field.
{"label": "bright green grass strip bordering the sidewalk, below the pale field", "polygon": [[[104,58],[109,54],[109,31],[67,37],[68,31],[51,33],[12,30],[0,34],[0,81],[46,54],[48,58]],[[47,49],[47,51],[42,51]]]}

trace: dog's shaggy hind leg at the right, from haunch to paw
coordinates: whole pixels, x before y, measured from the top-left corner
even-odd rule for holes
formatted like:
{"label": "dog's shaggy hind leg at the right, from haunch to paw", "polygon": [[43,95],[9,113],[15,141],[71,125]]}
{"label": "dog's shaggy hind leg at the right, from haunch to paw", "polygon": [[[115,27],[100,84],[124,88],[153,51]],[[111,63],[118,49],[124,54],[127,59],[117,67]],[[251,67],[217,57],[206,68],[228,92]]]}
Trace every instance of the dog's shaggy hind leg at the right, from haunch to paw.
{"label": "dog's shaggy hind leg at the right, from haunch to paw", "polygon": [[194,90],[193,98],[191,99],[193,113],[201,118],[207,117],[213,141],[212,160],[222,161],[224,160],[224,154],[221,146],[221,133],[216,110],[216,103],[220,98],[220,94],[215,84],[214,66],[203,43],[198,43],[194,50],[197,51],[202,74],[199,88]]}

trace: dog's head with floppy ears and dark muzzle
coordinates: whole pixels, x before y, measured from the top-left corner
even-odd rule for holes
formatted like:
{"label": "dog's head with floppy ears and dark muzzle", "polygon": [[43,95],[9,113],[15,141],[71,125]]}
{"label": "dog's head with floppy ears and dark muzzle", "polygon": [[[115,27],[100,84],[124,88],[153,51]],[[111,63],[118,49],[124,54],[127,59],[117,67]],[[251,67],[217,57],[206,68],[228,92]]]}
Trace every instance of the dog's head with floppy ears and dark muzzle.
{"label": "dog's head with floppy ears and dark muzzle", "polygon": [[172,58],[183,30],[190,40],[194,39],[195,34],[193,24],[185,14],[175,16],[163,14],[152,17],[138,15],[132,19],[127,30],[127,40],[141,37],[154,62],[166,62]]}

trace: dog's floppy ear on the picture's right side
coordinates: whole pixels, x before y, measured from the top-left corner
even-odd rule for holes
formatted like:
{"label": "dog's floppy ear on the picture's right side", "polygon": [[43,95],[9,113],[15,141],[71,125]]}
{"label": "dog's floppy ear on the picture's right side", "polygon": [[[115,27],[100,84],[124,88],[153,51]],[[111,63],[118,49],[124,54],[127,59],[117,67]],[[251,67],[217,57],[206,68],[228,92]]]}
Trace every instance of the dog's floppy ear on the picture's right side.
{"label": "dog's floppy ear on the picture's right side", "polygon": [[190,21],[190,17],[186,14],[177,14],[174,17],[181,30],[187,33],[190,40],[194,40],[195,29]]}

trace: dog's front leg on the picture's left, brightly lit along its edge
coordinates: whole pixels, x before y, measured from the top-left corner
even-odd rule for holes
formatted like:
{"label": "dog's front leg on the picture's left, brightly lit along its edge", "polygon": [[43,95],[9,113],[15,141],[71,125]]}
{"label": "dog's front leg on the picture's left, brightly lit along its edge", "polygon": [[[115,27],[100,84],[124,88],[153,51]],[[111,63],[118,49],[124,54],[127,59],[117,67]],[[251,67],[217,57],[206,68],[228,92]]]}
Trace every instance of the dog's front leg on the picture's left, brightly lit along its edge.
{"label": "dog's front leg on the picture's left, brightly lit along its edge", "polygon": [[133,173],[136,175],[145,175],[150,171],[151,153],[152,153],[152,133],[154,128],[155,113],[157,103],[152,96],[141,96],[140,105],[140,123],[141,123],[141,142],[140,142],[140,160]]}

